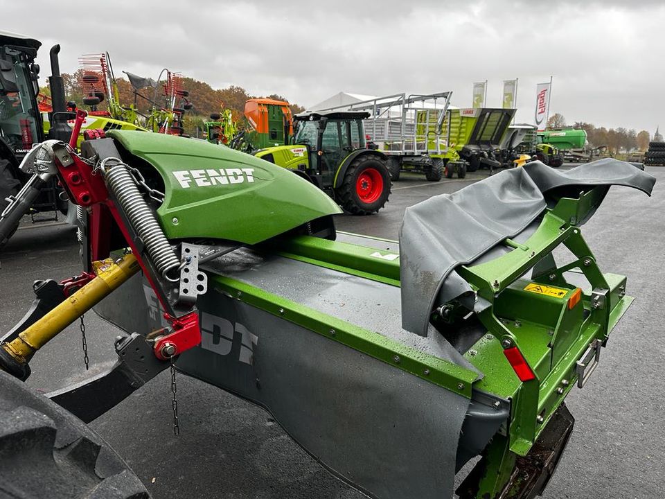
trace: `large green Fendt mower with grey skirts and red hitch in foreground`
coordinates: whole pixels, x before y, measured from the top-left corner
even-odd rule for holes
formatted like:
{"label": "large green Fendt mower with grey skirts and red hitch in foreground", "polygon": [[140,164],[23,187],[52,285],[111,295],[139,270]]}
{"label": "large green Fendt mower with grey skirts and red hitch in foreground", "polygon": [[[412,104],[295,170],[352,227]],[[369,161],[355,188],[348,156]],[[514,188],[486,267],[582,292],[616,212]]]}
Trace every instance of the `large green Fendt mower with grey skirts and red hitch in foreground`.
{"label": "large green Fendt mower with grey skirts and red hitch in foreground", "polygon": [[[330,152],[328,127],[339,137],[350,118],[306,121],[312,133],[298,137],[321,159],[311,175]],[[601,272],[582,225],[610,186],[650,193],[652,176],[614,159],[566,172],[536,161],[416,204],[400,240],[387,241],[337,232],[337,204],[269,161],[165,134],[108,135],[80,155],[46,141],[21,164],[60,180],[85,209],[85,264],[73,279],[39,281],[0,338],[10,450],[0,490],[148,498],[82,421],[172,369],[265,408],[372,498],[450,498],[478,456],[460,498],[542,493],[573,429],[565,399],[589,389],[632,301],[626,277]],[[347,172],[362,171],[355,159]],[[559,248],[567,260],[556,261]],[[119,329],[116,364],[30,392],[19,381],[30,359],[61,355],[48,341],[91,308]]]}

